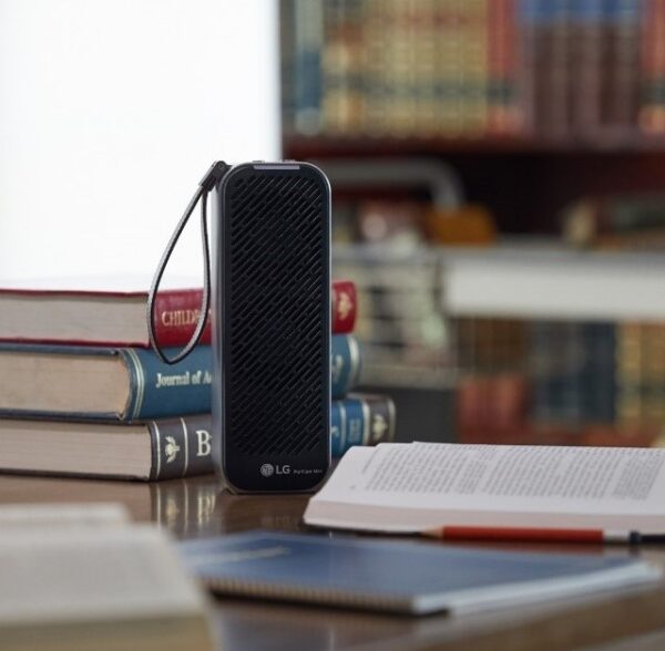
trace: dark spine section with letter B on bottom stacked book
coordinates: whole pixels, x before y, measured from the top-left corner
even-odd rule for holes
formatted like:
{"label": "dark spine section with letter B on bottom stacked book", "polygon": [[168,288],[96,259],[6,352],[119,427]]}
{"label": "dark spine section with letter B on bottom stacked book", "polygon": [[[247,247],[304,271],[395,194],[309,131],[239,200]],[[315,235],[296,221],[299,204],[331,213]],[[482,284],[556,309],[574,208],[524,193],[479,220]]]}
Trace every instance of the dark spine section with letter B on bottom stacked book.
{"label": "dark spine section with letter B on bottom stacked book", "polygon": [[151,482],[214,472],[209,414],[150,421],[147,427],[152,446]]}

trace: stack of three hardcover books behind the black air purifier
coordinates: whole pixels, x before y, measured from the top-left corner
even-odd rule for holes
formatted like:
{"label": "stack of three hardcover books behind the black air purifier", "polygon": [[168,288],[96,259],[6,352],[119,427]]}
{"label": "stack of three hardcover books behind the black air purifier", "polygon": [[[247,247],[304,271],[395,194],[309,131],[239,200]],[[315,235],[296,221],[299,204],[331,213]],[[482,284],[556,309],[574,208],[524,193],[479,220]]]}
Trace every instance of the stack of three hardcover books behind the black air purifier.
{"label": "stack of three hardcover books behind the black air purifier", "polygon": [[[178,285],[156,303],[168,356],[188,340],[201,303],[201,289]],[[149,344],[145,287],[90,279],[0,289],[0,471],[143,480],[213,472],[209,323],[185,360],[162,363]],[[360,370],[354,283],[335,281],[332,297],[341,455],[388,436],[393,416],[387,399],[345,397]]]}

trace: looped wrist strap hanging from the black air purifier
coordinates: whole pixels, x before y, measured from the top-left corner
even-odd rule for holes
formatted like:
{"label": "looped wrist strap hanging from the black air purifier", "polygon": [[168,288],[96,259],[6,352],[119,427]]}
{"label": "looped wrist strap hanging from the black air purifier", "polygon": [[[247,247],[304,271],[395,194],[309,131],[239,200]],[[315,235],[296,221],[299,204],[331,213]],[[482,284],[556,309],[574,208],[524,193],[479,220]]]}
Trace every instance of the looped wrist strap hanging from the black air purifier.
{"label": "looped wrist strap hanging from the black air purifier", "polygon": [[[160,265],[157,270],[153,277],[152,286],[150,288],[150,293],[147,296],[147,335],[150,338],[150,344],[155,351],[156,355],[166,364],[175,364],[181,360],[184,360],[194,349],[194,347],[200,342],[201,335],[203,334],[203,330],[205,329],[205,322],[207,320],[208,310],[211,307],[211,256],[209,256],[209,245],[208,245],[208,232],[207,232],[207,196],[209,192],[215,187],[218,180],[221,180],[224,175],[228,172],[231,165],[227,165],[223,161],[217,161],[211,165],[211,168],[206,172],[205,176],[201,179],[198,184],[198,189],[192,197],[192,200],[185,208],[183,216],[181,217],[168,244],[166,245],[166,249],[162,254],[162,259],[160,260]],[[164,354],[160,343],[157,342],[157,338],[155,335],[155,299],[157,292],[160,290],[160,283],[162,282],[162,276],[166,269],[166,265],[168,265],[168,260],[171,259],[171,255],[175,249],[175,245],[180,239],[196,204],[201,200],[201,248],[203,252],[203,298],[201,300],[201,312],[198,313],[198,321],[196,322],[196,328],[194,333],[192,334],[187,344],[173,358],[167,358]]]}

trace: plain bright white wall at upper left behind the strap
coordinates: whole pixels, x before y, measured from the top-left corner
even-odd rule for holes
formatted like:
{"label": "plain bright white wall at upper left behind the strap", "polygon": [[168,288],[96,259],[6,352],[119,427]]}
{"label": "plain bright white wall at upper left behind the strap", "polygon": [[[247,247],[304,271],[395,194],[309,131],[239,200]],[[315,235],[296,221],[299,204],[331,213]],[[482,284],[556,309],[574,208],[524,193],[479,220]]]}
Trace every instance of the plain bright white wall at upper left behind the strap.
{"label": "plain bright white wall at upper left behind the strap", "polygon": [[212,161],[279,157],[277,75],[276,0],[0,0],[0,278],[152,272]]}

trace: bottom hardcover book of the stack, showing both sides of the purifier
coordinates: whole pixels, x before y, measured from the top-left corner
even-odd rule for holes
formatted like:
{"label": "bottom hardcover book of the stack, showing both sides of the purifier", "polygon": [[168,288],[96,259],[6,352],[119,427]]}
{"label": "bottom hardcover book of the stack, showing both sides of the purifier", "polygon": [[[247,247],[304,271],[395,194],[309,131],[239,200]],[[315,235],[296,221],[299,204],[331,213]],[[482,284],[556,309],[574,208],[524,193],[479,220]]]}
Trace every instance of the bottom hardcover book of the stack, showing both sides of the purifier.
{"label": "bottom hardcover book of the stack, showing both sides of the purifier", "polygon": [[[395,436],[387,396],[354,394],[330,405],[331,455]],[[0,418],[0,472],[156,482],[215,472],[212,417],[114,423]]]}

